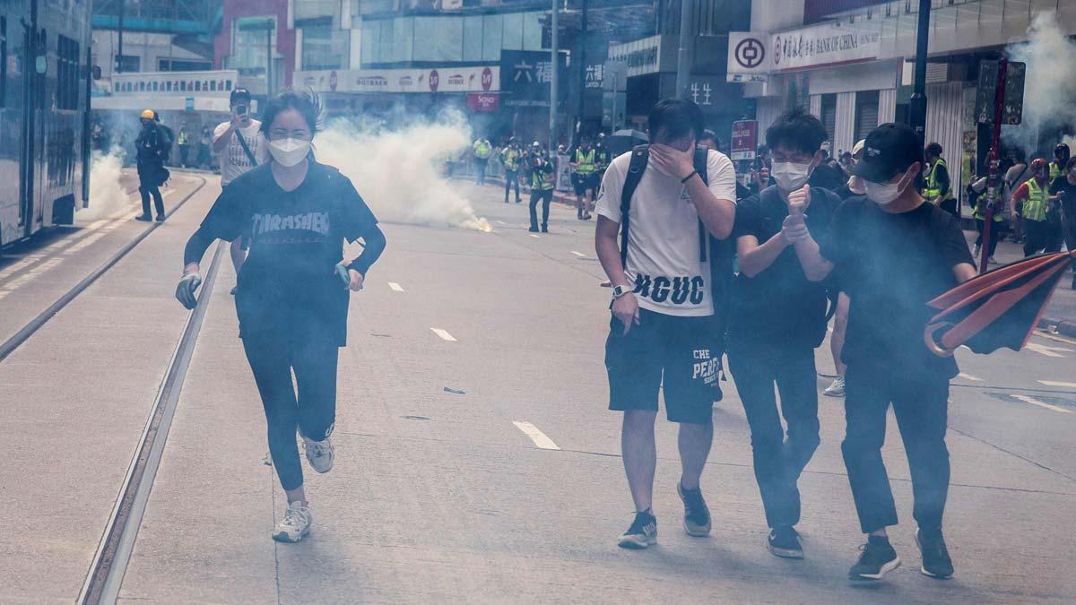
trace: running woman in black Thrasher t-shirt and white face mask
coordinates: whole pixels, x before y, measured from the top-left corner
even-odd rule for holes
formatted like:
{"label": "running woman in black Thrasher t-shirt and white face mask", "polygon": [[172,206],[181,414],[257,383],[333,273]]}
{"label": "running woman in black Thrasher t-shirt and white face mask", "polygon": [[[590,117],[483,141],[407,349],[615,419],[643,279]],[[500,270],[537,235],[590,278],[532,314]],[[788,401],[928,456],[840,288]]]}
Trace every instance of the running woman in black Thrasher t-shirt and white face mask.
{"label": "running woman in black Thrasher t-shirt and white face mask", "polygon": [[[296,430],[317,473],[332,468],[329,435],[336,420],[337,352],[345,344],[349,291],[358,292],[385,248],[378,220],[337,169],[317,164],[311,140],[321,108],[316,96],[286,92],[265,109],[261,131],[272,161],[237,178],[187,241],[175,297],[198,304],[198,264],[214,240],[250,238],[239,272],[239,337],[254,372],[269,425],[269,452],[287,493],[287,510],[272,537],[298,541],[313,520],[302,490]],[[365,249],[350,264],[344,240]],[[295,383],[292,371],[295,371]]]}

